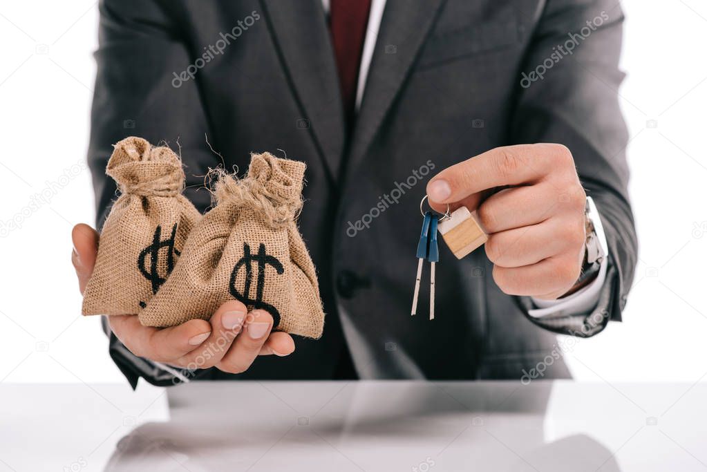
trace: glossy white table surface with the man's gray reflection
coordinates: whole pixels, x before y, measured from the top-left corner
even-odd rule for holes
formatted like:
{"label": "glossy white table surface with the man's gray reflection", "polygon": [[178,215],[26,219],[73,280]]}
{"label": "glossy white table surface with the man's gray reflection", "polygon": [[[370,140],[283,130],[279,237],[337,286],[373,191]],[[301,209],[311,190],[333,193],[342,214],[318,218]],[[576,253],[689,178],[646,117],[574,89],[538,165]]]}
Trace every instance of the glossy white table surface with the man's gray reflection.
{"label": "glossy white table surface with the man's gray reflection", "polygon": [[706,384],[0,384],[0,471],[707,471]]}

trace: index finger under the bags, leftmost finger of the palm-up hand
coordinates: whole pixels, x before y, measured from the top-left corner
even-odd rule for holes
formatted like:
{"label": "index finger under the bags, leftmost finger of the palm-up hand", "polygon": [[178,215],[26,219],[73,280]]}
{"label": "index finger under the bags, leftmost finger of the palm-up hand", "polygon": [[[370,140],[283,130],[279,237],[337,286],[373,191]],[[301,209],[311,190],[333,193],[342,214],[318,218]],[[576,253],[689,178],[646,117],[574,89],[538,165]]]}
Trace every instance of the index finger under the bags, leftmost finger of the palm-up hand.
{"label": "index finger under the bags, leftmost finger of the palm-up hand", "polygon": [[110,329],[130,352],[157,362],[172,362],[200,346],[211,335],[211,324],[192,319],[170,328],[142,326],[132,314],[108,317]]}

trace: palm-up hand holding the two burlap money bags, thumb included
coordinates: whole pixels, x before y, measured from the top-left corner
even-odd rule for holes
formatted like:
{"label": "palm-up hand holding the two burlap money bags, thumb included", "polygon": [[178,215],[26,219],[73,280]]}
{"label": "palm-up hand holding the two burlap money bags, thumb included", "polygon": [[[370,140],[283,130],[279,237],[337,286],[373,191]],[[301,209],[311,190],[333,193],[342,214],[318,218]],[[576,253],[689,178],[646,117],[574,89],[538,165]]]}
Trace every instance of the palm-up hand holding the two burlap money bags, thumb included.
{"label": "palm-up hand holding the two burlap money bags, thumb included", "polygon": [[[98,233],[88,225],[74,226],[71,262],[83,294],[93,273]],[[295,343],[287,333],[271,332],[273,319],[264,310],[247,313],[243,303],[230,300],[209,321],[192,319],[170,328],[142,326],[134,314],[108,317],[110,329],[130,352],[141,358],[189,370],[217,367],[245,372],[257,355],[288,355]]]}

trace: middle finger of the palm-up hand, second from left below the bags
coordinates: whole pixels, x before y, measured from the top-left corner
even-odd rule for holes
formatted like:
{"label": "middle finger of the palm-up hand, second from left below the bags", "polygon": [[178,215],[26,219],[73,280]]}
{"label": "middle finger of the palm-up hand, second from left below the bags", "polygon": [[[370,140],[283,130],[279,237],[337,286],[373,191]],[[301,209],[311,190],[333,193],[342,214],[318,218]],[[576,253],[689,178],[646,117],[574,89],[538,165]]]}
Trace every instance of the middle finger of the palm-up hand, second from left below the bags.
{"label": "middle finger of the palm-up hand, second from left below the bags", "polygon": [[247,308],[238,300],[230,300],[218,307],[211,317],[211,334],[198,348],[175,361],[189,369],[208,369],[221,362],[243,329]]}

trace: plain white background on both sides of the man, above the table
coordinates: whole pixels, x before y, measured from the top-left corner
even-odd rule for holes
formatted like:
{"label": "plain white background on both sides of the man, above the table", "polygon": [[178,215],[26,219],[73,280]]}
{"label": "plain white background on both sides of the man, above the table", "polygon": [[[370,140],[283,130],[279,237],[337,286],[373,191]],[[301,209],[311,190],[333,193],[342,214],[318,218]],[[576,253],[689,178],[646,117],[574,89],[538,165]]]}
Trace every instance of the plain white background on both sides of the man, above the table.
{"label": "plain white background on both sides of the man, above the table", "polygon": [[[696,382],[707,374],[707,6],[623,7],[640,264],[624,323],[573,346],[568,362],[581,380]],[[92,1],[0,2],[1,221],[84,165],[97,20]],[[93,211],[84,168],[0,238],[0,382],[124,382],[98,318],[79,314],[69,262],[71,227]]]}

